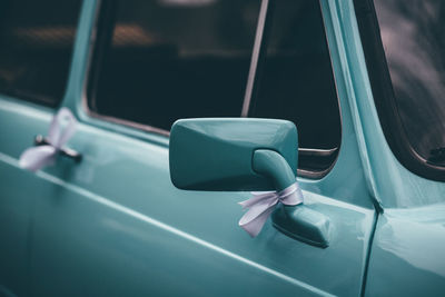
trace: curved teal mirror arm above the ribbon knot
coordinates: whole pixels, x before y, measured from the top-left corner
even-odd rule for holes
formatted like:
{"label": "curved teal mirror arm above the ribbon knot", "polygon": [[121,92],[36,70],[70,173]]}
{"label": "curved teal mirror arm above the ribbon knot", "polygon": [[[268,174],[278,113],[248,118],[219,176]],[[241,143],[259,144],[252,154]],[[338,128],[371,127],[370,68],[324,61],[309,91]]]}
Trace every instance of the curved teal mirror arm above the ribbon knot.
{"label": "curved teal mirror arm above the ribbon knot", "polygon": [[255,172],[271,179],[277,191],[281,191],[295,182],[296,176],[286,159],[270,149],[254,151],[253,169]]}

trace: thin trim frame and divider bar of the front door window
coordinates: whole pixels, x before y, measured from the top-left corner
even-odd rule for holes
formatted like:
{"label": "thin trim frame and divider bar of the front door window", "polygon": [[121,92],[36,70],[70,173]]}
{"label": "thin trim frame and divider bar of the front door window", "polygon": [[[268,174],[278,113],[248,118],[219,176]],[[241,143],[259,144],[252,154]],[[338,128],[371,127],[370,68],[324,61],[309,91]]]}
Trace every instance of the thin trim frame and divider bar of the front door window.
{"label": "thin trim frame and divider bar of the front door window", "polygon": [[[108,121],[111,123],[118,123],[122,126],[127,126],[130,128],[135,128],[138,130],[142,130],[146,132],[150,133],[156,133],[160,135],[162,137],[168,138],[170,136],[169,130],[165,130],[161,128],[157,128],[155,126],[146,125],[146,123],[138,123],[135,121],[126,120],[126,119],[120,119],[116,118],[112,116],[106,116],[96,112],[90,108],[90,102],[95,102],[96,98],[91,98],[91,93],[95,92],[95,90],[90,89],[90,86],[97,86],[96,82],[92,80],[97,80],[98,77],[98,71],[96,69],[99,69],[101,60],[101,52],[103,51],[103,39],[107,37],[107,33],[112,33],[112,27],[107,26],[107,23],[110,23],[110,18],[109,16],[112,11],[112,2],[116,0],[110,0],[110,1],[103,1],[103,0],[98,0],[97,4],[97,10],[96,10],[96,16],[95,16],[95,24],[91,31],[91,47],[89,48],[89,53],[88,53],[88,65],[87,65],[87,72],[86,72],[86,78],[83,81],[83,87],[82,87],[82,100],[81,100],[81,106],[85,112],[91,117],[96,118],[99,120]],[[260,9],[259,9],[259,14],[258,14],[258,21],[256,26],[256,33],[255,33],[255,41],[253,46],[253,51],[251,51],[251,57],[250,57],[250,66],[249,66],[249,71],[248,71],[248,77],[246,80],[246,90],[245,90],[245,97],[243,100],[243,106],[240,110],[240,116],[241,118],[247,118],[247,115],[249,112],[250,108],[250,102],[253,96],[255,96],[255,92],[257,91],[257,86],[259,81],[259,73],[260,70],[258,70],[260,67],[263,67],[264,63],[264,57],[266,57],[266,50],[265,48],[267,47],[267,34],[270,31],[268,23],[270,23],[270,13],[268,13],[268,10],[270,9],[270,1],[275,0],[260,0]],[[340,125],[340,141],[337,148],[332,148],[332,149],[315,149],[315,148],[298,148],[298,160],[300,157],[308,157],[308,158],[330,158],[330,165],[329,167],[323,169],[323,170],[308,170],[308,169],[300,169],[298,168],[298,176],[309,178],[309,179],[322,179],[325,177],[330,170],[334,168],[335,164],[337,162],[338,156],[339,156],[339,150],[342,147],[343,142],[343,117],[342,117],[342,108],[340,108],[340,100],[339,100],[339,95],[338,95],[338,88],[337,88],[337,80],[336,76],[334,72],[334,66],[333,66],[333,58],[332,58],[332,51],[330,51],[330,44],[329,40],[327,38],[326,33],[326,22],[325,22],[325,17],[323,14],[322,10],[322,0],[317,0],[319,3],[320,8],[320,14],[322,14],[322,22],[324,27],[324,32],[325,32],[325,40],[327,44],[327,49],[329,52],[329,62],[330,62],[330,69],[332,69],[332,77],[334,81],[334,87],[335,87],[335,92],[336,92],[336,99],[338,103],[338,115],[339,115],[339,125]],[[115,22],[112,22],[115,23]],[[106,30],[103,30],[106,28]],[[258,30],[261,28],[261,30]],[[265,38],[266,37],[266,38]]]}

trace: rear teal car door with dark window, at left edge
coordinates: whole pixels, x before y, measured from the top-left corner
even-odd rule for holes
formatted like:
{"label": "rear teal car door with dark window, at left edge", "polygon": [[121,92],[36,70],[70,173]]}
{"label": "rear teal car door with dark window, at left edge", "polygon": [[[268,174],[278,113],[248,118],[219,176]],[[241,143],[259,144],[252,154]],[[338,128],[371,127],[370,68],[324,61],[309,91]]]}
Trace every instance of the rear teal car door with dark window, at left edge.
{"label": "rear teal car door with dark window, at left edge", "polygon": [[80,2],[0,3],[1,296],[29,294],[31,215],[36,199],[50,196],[51,185],[21,170],[18,158],[44,133],[63,98],[79,9]]}

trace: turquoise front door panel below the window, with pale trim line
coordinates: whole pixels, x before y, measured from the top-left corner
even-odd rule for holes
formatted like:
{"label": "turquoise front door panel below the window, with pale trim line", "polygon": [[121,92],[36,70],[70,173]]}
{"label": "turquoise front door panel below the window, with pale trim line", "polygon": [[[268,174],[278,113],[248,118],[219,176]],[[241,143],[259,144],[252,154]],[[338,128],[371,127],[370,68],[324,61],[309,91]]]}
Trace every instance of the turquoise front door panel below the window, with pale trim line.
{"label": "turquoise front door panel below the window, with pale trim line", "polygon": [[[8,121],[30,130],[4,150],[22,172],[19,154],[49,119],[13,109]],[[307,206],[329,219],[329,247],[270,224],[251,239],[237,226],[237,202],[250,195],[176,189],[167,147],[87,125],[69,146],[83,155],[80,164],[59,158],[22,172],[39,180],[32,191],[48,191],[34,202],[32,294],[359,294],[373,210],[305,191]]]}

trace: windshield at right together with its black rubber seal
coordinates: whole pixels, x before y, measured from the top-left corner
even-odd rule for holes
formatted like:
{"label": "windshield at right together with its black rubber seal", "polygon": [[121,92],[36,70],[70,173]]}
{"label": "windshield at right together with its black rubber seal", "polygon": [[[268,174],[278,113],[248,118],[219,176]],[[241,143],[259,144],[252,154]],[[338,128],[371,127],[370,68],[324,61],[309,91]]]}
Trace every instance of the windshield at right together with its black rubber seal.
{"label": "windshield at right together with its black rubber seal", "polygon": [[366,66],[386,140],[413,172],[445,180],[445,6],[355,0]]}

